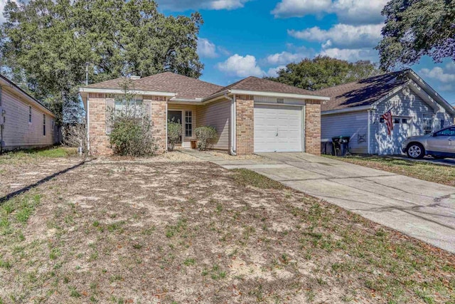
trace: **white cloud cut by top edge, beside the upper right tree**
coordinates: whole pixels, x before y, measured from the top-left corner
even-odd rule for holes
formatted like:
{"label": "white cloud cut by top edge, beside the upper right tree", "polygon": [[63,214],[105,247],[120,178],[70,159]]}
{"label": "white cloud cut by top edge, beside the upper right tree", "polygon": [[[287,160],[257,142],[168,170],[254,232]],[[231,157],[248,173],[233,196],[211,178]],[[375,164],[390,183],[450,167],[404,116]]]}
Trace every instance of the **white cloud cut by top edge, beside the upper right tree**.
{"label": "white cloud cut by top edge, beside the upper right tree", "polygon": [[282,0],[272,11],[275,18],[336,14],[348,24],[374,24],[384,20],[381,11],[389,0]]}

